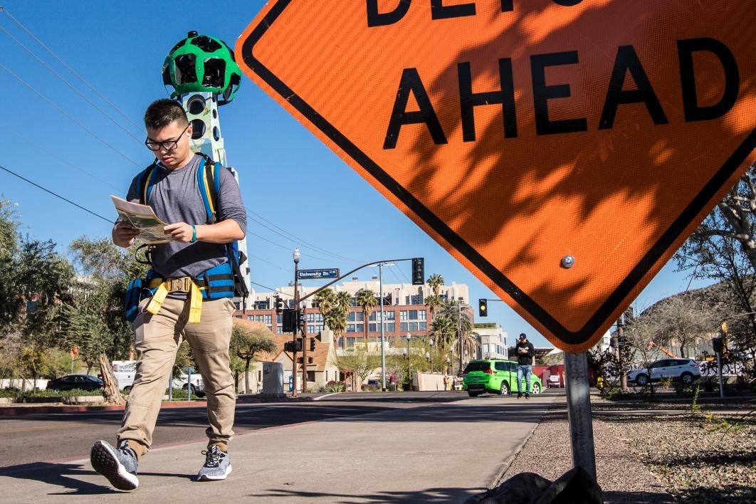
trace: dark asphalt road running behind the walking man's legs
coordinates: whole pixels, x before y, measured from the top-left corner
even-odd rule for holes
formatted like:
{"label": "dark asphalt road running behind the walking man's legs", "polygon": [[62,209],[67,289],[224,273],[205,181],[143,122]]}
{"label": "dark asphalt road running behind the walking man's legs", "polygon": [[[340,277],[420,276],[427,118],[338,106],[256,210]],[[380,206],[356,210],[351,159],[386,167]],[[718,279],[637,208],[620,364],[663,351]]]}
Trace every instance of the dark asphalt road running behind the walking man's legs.
{"label": "dark asphalt road running behind the walking man's legs", "polygon": [[[441,400],[465,398],[459,392],[438,394],[335,394],[318,400],[265,404],[237,404],[237,434],[302,422],[361,416],[384,410],[417,406],[435,395]],[[98,439],[113,443],[122,411],[80,413],[26,413],[0,416],[0,468],[31,462],[62,462],[87,457]],[[207,425],[204,407],[163,408],[158,417],[153,447],[203,441]]]}

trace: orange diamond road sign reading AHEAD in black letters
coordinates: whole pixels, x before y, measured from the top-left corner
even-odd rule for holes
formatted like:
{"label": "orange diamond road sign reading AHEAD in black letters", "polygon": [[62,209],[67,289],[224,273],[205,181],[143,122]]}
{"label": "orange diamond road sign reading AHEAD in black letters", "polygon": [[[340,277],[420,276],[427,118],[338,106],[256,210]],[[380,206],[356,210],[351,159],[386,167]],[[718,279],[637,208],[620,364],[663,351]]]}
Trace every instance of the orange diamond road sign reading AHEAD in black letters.
{"label": "orange diamond road sign reading AHEAD in black letters", "polygon": [[754,160],[745,0],[271,0],[246,74],[565,351]]}

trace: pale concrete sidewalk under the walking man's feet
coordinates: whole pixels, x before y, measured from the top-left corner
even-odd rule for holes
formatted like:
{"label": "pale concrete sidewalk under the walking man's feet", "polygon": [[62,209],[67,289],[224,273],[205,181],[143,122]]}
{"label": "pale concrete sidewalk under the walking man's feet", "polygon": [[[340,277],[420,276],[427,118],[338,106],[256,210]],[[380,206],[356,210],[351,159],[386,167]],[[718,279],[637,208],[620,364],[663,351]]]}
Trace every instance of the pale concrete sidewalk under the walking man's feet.
{"label": "pale concrete sidewalk under the walking man's feet", "polygon": [[204,442],[151,450],[132,493],[88,459],[4,468],[0,500],[464,502],[497,483],[556,397],[485,395],[253,431],[232,441],[226,481],[194,481]]}

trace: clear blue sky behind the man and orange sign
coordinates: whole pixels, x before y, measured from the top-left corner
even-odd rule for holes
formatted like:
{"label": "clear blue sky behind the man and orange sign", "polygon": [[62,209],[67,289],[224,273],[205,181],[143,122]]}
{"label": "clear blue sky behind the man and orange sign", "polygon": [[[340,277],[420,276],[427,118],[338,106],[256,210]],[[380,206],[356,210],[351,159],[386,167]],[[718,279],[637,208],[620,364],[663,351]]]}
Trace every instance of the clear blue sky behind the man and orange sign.
{"label": "clear blue sky behind the man and orange sign", "polygon": [[[124,196],[151,161],[141,116],[151,100],[169,95],[160,76],[167,52],[192,29],[233,48],[265,2],[2,5],[0,166],[112,220],[108,196]],[[247,240],[256,289],[292,280],[291,254],[299,247],[300,267],[342,272],[370,261],[424,257],[426,277],[439,273],[447,283],[468,284],[473,303],[496,297],[246,76],[220,115],[228,161],[251,211]],[[112,225],[104,219],[2,170],[0,195],[17,203],[23,233],[53,240],[61,252],[77,237],[110,236]],[[377,267],[358,276],[373,274]],[[383,280],[409,282],[410,263],[385,268]],[[668,264],[635,305],[646,308],[688,282]],[[500,323],[510,335],[528,332],[534,344],[548,345],[507,305],[491,302],[489,311],[479,321]]]}

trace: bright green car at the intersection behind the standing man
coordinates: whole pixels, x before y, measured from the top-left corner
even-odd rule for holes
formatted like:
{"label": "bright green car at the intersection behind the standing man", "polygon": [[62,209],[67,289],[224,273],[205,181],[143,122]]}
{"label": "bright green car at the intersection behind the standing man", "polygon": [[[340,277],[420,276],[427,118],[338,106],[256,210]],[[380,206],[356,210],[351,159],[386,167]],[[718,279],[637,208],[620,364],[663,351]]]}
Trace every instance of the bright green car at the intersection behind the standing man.
{"label": "bright green car at the intersection behind the standing man", "polygon": [[[484,392],[507,395],[516,391],[517,363],[500,359],[470,360],[463,372],[462,389],[466,390],[470,397]],[[541,379],[531,374],[530,393],[540,394],[543,389]]]}

